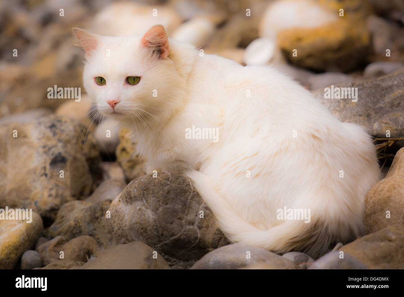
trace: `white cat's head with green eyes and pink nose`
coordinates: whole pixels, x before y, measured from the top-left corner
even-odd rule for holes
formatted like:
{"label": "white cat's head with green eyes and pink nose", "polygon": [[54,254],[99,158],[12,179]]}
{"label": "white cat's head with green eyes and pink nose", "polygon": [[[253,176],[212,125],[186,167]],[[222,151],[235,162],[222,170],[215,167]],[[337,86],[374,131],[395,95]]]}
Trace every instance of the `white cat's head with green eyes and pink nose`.
{"label": "white cat's head with green eyes and pink nose", "polygon": [[143,36],[73,33],[85,51],[84,87],[102,115],[136,121],[173,110],[178,74],[162,25]]}

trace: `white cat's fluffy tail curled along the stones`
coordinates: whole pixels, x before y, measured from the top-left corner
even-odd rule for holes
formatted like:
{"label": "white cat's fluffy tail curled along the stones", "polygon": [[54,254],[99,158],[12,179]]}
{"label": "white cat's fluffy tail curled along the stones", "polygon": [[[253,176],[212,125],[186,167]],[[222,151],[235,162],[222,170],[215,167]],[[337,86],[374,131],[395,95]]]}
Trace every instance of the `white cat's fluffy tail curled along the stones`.
{"label": "white cat's fluffy tail curled along the stones", "polygon": [[217,217],[219,227],[232,242],[285,253],[296,248],[297,242],[302,244],[303,238],[308,239],[307,235],[302,234],[305,229],[303,221],[285,221],[267,230],[251,225],[234,211],[229,202],[217,194],[208,176],[199,171],[187,171],[185,175],[194,181],[196,190]]}

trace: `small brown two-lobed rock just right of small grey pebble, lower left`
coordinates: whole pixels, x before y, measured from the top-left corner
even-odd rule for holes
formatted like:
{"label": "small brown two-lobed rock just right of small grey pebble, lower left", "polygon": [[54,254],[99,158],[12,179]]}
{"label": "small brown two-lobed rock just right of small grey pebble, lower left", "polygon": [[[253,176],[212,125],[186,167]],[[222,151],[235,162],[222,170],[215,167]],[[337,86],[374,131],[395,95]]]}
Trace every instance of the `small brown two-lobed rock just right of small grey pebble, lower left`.
{"label": "small brown two-lobed rock just right of small grey pebble, lower left", "polygon": [[[38,248],[44,265],[60,259],[87,262],[98,249],[94,238],[88,235],[78,236],[67,241],[63,236],[56,236]],[[63,253],[61,254],[61,252]],[[64,258],[61,258],[63,255]]]}

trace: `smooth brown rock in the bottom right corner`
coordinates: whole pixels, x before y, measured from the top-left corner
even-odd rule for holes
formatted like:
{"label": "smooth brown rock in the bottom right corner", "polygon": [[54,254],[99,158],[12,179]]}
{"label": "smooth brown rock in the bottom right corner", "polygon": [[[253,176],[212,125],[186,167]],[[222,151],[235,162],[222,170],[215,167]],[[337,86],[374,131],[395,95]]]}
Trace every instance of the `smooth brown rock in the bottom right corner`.
{"label": "smooth brown rock in the bottom right corner", "polygon": [[345,244],[340,251],[364,263],[369,269],[404,268],[404,228],[391,225]]}

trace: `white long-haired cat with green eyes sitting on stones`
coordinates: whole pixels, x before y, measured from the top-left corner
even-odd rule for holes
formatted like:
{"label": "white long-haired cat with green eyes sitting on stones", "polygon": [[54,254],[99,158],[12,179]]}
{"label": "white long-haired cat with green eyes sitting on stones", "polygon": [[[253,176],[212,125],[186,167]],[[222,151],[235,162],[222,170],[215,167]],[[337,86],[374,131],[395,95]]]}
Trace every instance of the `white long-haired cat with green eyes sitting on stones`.
{"label": "white long-haired cat with green eyes sitting on stones", "polygon": [[[74,34],[99,112],[132,129],[148,173],[192,179],[231,241],[318,257],[361,234],[380,171],[360,126],[271,67],[203,55],[161,25],[143,37]],[[284,209],[308,210],[310,222]]]}

